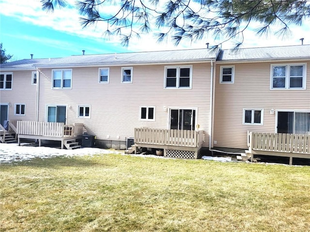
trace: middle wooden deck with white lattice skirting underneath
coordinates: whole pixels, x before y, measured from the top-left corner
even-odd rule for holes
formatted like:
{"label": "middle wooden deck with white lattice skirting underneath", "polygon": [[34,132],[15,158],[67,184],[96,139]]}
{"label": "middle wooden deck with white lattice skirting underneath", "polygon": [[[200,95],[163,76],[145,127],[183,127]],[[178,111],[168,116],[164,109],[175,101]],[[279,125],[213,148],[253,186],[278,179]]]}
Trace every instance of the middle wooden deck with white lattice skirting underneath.
{"label": "middle wooden deck with white lattice skirting underneath", "polygon": [[137,147],[164,150],[164,157],[197,159],[203,142],[203,131],[135,128]]}

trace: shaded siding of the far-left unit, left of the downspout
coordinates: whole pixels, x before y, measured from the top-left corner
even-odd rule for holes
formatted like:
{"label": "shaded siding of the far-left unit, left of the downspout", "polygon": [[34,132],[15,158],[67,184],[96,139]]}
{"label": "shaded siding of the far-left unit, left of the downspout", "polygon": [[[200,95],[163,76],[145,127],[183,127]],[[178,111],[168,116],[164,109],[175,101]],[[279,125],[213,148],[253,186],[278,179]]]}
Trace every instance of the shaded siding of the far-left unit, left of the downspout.
{"label": "shaded siding of the far-left unit, left of the downspout", "polygon": [[[12,71],[11,73],[13,73],[12,90],[0,90],[0,103],[10,103],[9,119],[11,120],[35,120],[36,85],[31,84],[32,71]],[[15,115],[16,103],[25,104],[25,115]]]}

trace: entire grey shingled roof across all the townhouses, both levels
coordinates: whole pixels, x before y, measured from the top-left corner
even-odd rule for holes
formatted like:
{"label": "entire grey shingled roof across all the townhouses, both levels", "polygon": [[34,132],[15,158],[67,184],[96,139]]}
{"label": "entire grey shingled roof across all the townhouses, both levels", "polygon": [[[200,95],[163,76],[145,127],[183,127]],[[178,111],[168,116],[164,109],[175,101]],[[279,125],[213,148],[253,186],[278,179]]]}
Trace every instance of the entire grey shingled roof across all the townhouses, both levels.
{"label": "entire grey shingled roof across all the townhouses, both levels", "polygon": [[187,49],[154,52],[133,52],[99,55],[78,55],[64,58],[22,59],[1,64],[1,70],[35,70],[35,67],[87,67],[186,62],[249,62],[268,60],[310,59],[310,45],[230,49]]}

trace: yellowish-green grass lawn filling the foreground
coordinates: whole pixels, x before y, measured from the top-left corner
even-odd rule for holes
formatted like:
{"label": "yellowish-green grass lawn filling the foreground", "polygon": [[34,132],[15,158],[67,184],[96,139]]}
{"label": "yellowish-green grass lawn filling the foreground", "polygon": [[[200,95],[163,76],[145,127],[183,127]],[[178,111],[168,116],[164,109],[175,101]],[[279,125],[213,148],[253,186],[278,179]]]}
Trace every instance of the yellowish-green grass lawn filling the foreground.
{"label": "yellowish-green grass lawn filling the foreground", "polygon": [[310,167],[122,155],[0,166],[0,231],[307,232]]}

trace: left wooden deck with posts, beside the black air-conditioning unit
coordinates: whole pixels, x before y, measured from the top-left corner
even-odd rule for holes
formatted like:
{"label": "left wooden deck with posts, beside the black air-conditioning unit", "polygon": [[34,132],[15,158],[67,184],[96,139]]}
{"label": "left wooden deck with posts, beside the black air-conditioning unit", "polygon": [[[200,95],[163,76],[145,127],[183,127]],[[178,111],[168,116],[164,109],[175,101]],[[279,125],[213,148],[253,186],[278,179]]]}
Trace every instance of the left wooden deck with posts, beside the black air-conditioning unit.
{"label": "left wooden deck with posts, beside the black air-conditioning unit", "polygon": [[37,139],[39,146],[41,146],[41,140],[55,140],[61,141],[61,148],[63,148],[65,141],[82,137],[83,123],[65,125],[60,122],[17,121],[16,133],[18,145],[20,145],[20,139]]}

